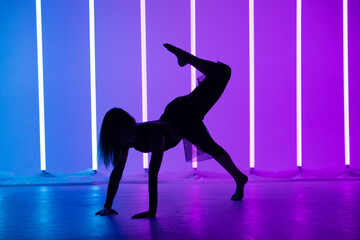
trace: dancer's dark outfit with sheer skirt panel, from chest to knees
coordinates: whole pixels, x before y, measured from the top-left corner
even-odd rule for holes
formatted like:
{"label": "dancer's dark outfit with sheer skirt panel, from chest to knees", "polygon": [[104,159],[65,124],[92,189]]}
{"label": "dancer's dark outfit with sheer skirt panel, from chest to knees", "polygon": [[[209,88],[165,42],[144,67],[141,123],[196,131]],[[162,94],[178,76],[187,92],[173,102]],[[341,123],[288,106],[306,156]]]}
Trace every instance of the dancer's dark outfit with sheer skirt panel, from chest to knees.
{"label": "dancer's dark outfit with sheer skirt panel, from chest to knees", "polygon": [[159,130],[165,135],[165,150],[175,147],[184,139],[187,161],[194,157],[191,144],[198,149],[195,154],[198,161],[224,153],[224,149],[210,136],[203,119],[224,92],[231,69],[223,63],[217,63],[210,72],[190,94],[171,101],[159,120],[137,124],[137,141],[133,145],[136,150],[151,152],[149,138]]}

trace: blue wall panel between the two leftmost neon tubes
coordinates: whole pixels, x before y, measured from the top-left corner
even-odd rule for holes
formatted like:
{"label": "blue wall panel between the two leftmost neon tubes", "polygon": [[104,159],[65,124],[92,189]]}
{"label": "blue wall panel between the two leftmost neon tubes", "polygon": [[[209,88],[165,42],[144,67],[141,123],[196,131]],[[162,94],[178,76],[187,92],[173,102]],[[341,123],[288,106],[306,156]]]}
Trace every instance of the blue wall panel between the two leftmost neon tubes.
{"label": "blue wall panel between the two leftmost neon tubes", "polygon": [[88,1],[43,0],[47,170],[91,168]]}

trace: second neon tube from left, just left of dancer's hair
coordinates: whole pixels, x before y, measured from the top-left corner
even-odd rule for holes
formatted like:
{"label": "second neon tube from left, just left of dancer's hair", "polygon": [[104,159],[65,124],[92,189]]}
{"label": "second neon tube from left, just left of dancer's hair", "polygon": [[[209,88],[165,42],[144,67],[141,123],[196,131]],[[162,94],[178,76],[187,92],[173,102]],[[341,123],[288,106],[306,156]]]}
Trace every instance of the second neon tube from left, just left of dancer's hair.
{"label": "second neon tube from left, just left of dancer's hair", "polygon": [[96,130],[96,81],[95,81],[95,18],[94,0],[89,0],[90,27],[90,91],[91,91],[91,139],[92,169],[97,170],[97,130]]}

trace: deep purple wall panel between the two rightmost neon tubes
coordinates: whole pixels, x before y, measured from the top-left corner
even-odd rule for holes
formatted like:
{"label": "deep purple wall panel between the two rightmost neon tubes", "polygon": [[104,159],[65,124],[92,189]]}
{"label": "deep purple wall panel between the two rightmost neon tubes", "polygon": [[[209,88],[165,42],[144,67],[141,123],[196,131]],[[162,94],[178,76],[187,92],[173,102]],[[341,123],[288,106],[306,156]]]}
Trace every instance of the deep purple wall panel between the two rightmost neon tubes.
{"label": "deep purple wall panel between the two rightmost neon tubes", "polygon": [[303,166],[343,167],[342,1],[303,1]]}

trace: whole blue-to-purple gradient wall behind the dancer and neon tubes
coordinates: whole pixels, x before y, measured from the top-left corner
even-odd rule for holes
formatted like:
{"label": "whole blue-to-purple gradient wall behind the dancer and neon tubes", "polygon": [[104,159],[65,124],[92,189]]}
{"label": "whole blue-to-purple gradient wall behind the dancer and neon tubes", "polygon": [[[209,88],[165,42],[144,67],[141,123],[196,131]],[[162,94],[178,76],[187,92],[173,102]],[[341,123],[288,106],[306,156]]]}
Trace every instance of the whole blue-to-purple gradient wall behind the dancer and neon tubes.
{"label": "whole blue-to-purple gradient wall behind the dancer and neon tubes", "polygon": [[[303,0],[303,166],[343,168],[342,0]],[[360,166],[360,2],[349,0],[351,167]],[[197,55],[232,67],[222,98],[205,118],[241,170],[249,169],[248,1],[196,1]],[[190,51],[190,0],[146,1],[149,120],[190,91],[165,42]],[[47,170],[91,168],[87,0],[42,0]],[[35,0],[0,1],[0,171],[40,171]],[[95,1],[97,127],[117,106],[141,121],[140,0]],[[255,0],[255,167],[296,168],[296,1]],[[105,170],[100,164],[100,170]],[[162,172],[190,170],[182,143]],[[200,170],[224,172],[215,162]],[[142,172],[130,151],[125,174]]]}

